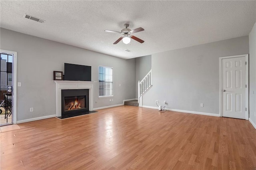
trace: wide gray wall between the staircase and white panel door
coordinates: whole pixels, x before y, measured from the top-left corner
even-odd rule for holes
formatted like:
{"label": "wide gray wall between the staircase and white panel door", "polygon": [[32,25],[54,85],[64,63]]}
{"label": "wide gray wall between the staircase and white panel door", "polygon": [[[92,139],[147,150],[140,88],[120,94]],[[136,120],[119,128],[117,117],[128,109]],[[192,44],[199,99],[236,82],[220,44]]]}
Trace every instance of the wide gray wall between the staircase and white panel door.
{"label": "wide gray wall between the staircase and white panel door", "polygon": [[[219,114],[219,57],[249,53],[248,36],[152,54],[143,105]],[[204,107],[200,107],[204,103]]]}

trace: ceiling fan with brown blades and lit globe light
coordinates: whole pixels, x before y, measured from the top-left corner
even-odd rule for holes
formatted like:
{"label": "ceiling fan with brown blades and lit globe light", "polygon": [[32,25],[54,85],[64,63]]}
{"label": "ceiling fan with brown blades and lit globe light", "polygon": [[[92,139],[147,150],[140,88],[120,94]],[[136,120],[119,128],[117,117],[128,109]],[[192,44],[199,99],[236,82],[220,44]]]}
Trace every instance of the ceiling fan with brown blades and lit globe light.
{"label": "ceiling fan with brown blades and lit globe light", "polygon": [[119,34],[123,34],[122,37],[118,38],[118,40],[116,40],[116,42],[114,42],[113,44],[117,44],[118,42],[120,42],[121,40],[123,41],[123,43],[128,44],[131,41],[131,38],[133,40],[136,40],[137,42],[140,43],[144,43],[143,40],[141,40],[140,38],[137,38],[135,36],[133,36],[132,34],[136,33],[136,32],[140,32],[140,31],[144,31],[143,28],[136,28],[134,30],[130,30],[128,28],[129,24],[124,24],[124,29],[121,30],[121,32],[118,31],[111,31],[111,30],[105,30],[106,32],[114,32],[114,33],[119,33]]}

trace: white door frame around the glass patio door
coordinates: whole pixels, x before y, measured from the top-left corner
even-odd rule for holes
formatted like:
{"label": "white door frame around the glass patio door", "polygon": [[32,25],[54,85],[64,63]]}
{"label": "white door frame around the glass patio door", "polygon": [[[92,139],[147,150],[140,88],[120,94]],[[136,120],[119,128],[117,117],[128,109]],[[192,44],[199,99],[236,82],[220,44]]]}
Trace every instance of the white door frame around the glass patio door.
{"label": "white door frame around the glass patio door", "polygon": [[13,68],[12,68],[12,94],[13,94],[13,100],[12,100],[12,123],[17,124],[17,52],[16,51],[8,51],[4,49],[0,49],[0,52],[12,54],[13,55]]}

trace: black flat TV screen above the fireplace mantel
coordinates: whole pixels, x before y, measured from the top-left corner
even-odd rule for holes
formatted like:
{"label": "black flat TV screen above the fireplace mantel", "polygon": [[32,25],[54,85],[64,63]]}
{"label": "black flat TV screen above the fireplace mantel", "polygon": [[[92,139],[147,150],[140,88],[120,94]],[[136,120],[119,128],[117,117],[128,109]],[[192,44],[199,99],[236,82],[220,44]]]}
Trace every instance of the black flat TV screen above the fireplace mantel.
{"label": "black flat TV screen above the fireplace mantel", "polygon": [[65,80],[92,81],[92,67],[64,63]]}

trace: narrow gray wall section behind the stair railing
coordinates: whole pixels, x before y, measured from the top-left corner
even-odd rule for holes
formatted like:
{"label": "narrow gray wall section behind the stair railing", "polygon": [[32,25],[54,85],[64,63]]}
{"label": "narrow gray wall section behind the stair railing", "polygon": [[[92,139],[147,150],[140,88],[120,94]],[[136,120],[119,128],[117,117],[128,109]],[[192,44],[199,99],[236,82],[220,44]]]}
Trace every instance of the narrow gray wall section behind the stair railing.
{"label": "narrow gray wall section behind the stair railing", "polygon": [[138,81],[141,81],[151,69],[151,55],[136,58],[136,99],[138,99]]}

